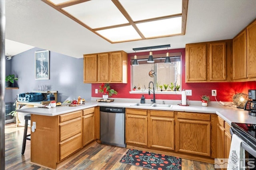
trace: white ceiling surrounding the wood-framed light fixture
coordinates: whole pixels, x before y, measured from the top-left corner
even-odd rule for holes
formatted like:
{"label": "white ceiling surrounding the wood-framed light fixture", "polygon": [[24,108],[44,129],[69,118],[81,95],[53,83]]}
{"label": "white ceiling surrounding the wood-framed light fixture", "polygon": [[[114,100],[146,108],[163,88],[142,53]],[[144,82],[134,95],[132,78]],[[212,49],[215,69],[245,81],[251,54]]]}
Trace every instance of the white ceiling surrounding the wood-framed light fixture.
{"label": "white ceiling surrounding the wood-framed light fixture", "polygon": [[107,51],[133,53],[132,48],[155,45],[184,48],[187,43],[232,39],[256,18],[255,9],[256,0],[189,0],[185,35],[111,44],[40,0],[6,0],[6,39],[19,42],[6,41],[6,53],[21,53],[16,51],[20,43],[29,45],[24,51],[39,47],[76,58]]}

